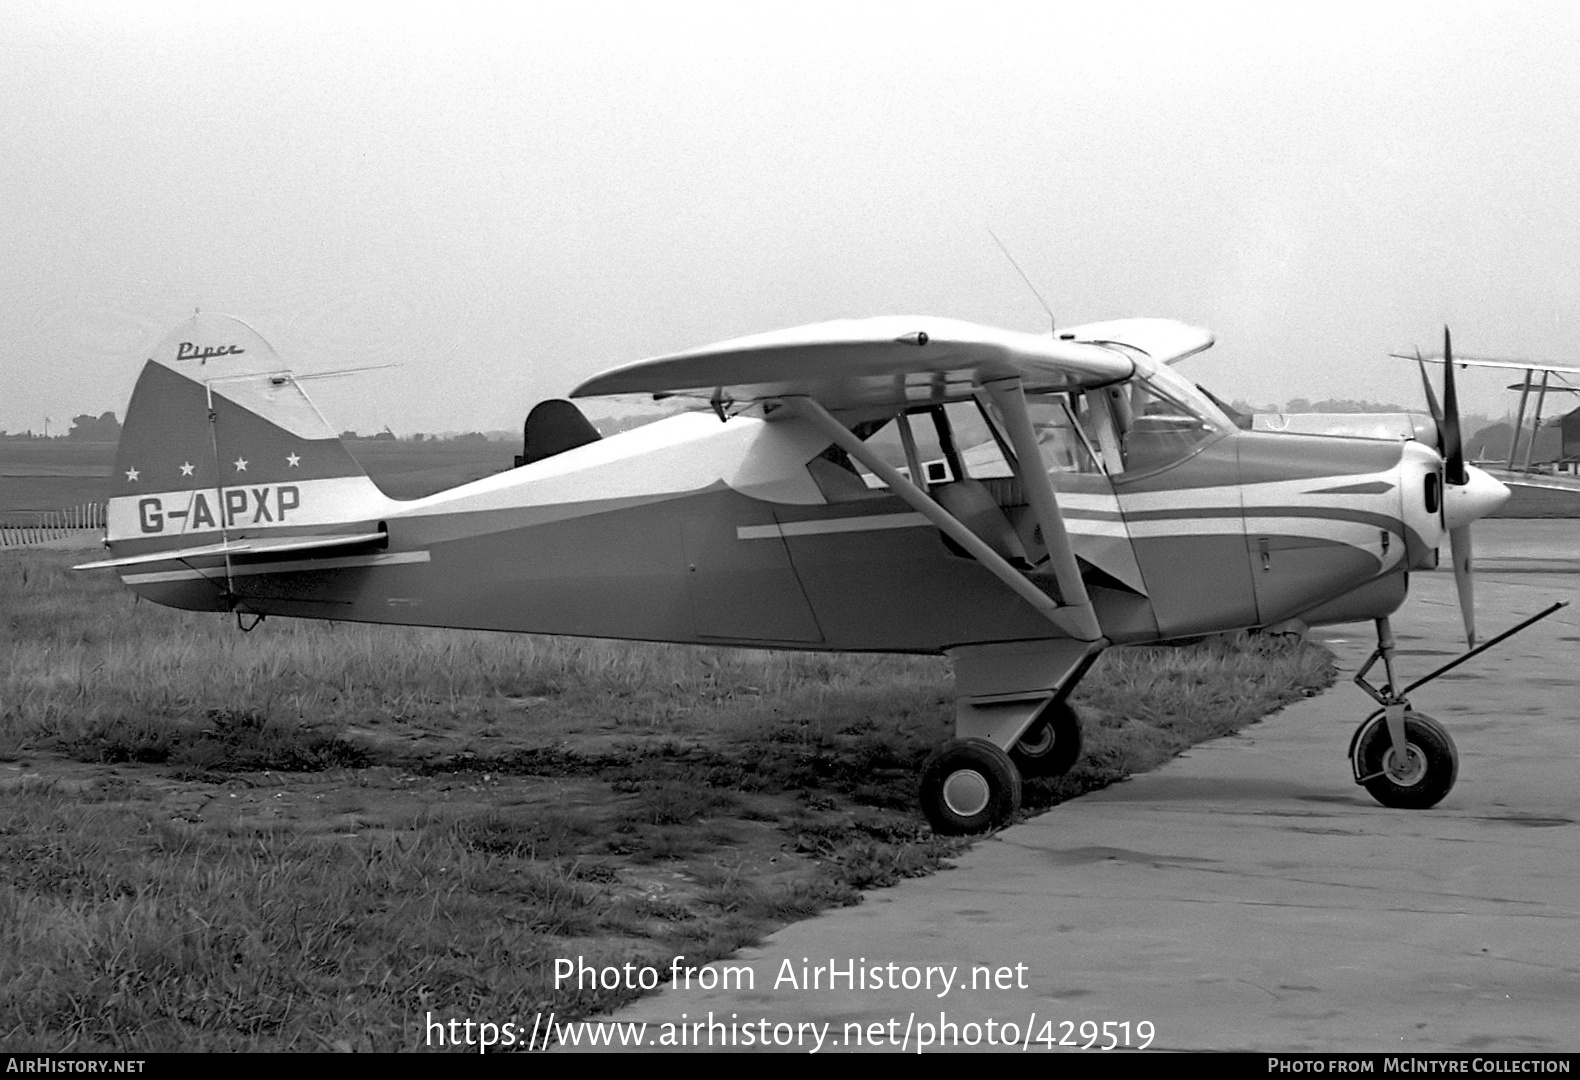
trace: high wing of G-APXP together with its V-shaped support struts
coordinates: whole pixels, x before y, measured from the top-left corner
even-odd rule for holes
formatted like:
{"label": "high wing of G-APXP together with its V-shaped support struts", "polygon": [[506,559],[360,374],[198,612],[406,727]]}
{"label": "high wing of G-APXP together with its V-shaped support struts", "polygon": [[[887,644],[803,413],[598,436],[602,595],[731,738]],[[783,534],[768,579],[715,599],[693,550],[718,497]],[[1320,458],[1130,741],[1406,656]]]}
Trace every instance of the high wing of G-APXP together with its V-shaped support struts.
{"label": "high wing of G-APXP together with its V-shaped support struts", "polygon": [[[1032,335],[957,319],[885,316],[820,322],[735,338],[615,368],[570,396],[651,393],[700,396],[720,418],[730,404],[781,399],[787,412],[882,477],[913,510],[964,546],[1005,586],[1082,647],[1098,647],[1095,617],[1074,548],[1027,414],[1027,392],[1106,387],[1212,344],[1206,330],[1169,319],[1125,319]],[[1057,600],[975,535],[934,493],[883,461],[834,412],[910,411],[984,393],[1016,453],[1016,474],[1038,519]]]}

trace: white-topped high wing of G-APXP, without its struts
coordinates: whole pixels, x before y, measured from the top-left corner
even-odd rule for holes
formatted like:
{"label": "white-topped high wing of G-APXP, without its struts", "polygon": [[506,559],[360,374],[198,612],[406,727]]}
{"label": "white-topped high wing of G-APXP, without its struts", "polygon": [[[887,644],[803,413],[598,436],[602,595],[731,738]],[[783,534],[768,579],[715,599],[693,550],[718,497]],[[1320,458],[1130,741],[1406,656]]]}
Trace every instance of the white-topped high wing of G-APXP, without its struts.
{"label": "white-topped high wing of G-APXP, without its struts", "polygon": [[921,406],[969,398],[1000,379],[1021,379],[1029,390],[1101,387],[1136,373],[1131,351],[1168,363],[1209,344],[1207,332],[1166,319],[1057,336],[926,316],[842,319],[638,360],[588,379],[570,396],[651,393],[720,406],[804,396],[833,411]]}

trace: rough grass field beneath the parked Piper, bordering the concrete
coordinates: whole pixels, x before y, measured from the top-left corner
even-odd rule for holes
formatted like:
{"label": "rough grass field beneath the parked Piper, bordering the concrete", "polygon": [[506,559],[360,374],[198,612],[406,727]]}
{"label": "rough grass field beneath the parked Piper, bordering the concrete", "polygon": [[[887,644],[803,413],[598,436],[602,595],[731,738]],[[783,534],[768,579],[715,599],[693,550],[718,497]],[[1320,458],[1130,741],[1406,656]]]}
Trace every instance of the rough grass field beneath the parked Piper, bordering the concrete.
{"label": "rough grass field beneath the parked Piper, bordering the concrete", "polygon": [[[0,1048],[409,1050],[626,992],[948,865],[948,668],[269,621],[0,556]],[[1027,813],[1332,679],[1269,638],[1109,652]]]}

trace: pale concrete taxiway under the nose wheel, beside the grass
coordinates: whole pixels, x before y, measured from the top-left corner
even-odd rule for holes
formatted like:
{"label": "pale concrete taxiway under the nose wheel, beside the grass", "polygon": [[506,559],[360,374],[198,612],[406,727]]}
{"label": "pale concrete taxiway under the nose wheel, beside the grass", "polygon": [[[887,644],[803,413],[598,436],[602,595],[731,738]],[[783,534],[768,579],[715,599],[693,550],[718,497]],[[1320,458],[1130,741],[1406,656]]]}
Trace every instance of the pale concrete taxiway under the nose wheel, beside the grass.
{"label": "pale concrete taxiway under the nose wheel, beside the grass", "polygon": [[[1476,543],[1484,638],[1580,600],[1580,523],[1482,521]],[[1406,679],[1457,655],[1452,578],[1414,575],[1394,627]],[[1580,1048],[1580,605],[1413,695],[1460,750],[1428,812],[1351,780],[1370,625],[1318,636],[1341,666],[1319,698],[714,965],[752,988],[667,988],[613,1018],[649,1022],[649,1044],[711,1020],[687,1048],[720,1050],[746,1025],[837,1052],[858,1028],[869,1048],[1002,1048],[1003,1025],[1032,1048],[1141,1045],[1142,1023],[1153,1050]],[[931,988],[886,985],[927,968]]]}

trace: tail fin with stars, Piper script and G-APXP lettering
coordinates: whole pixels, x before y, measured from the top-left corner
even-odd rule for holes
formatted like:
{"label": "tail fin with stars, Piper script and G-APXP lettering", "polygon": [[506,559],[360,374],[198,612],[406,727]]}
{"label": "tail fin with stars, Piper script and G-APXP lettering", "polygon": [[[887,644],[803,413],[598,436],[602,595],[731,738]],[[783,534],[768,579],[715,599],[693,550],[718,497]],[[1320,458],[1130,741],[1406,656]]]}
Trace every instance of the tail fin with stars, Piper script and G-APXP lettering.
{"label": "tail fin with stars, Piper script and G-APXP lettering", "polygon": [[239,538],[367,534],[389,502],[258,332],[199,314],[137,377],[106,540],[147,562]]}

